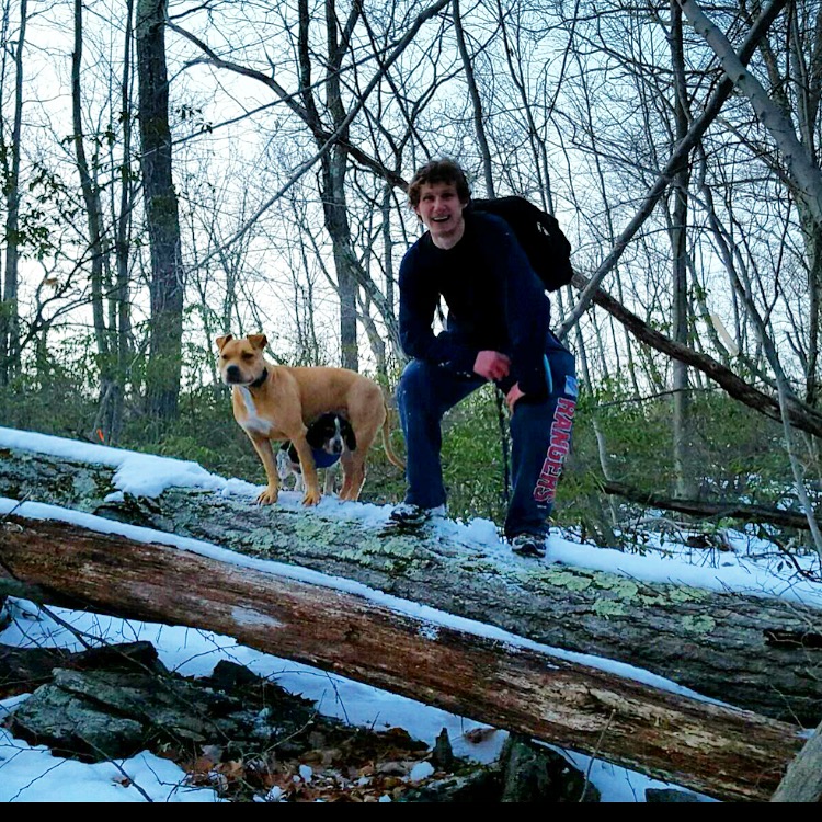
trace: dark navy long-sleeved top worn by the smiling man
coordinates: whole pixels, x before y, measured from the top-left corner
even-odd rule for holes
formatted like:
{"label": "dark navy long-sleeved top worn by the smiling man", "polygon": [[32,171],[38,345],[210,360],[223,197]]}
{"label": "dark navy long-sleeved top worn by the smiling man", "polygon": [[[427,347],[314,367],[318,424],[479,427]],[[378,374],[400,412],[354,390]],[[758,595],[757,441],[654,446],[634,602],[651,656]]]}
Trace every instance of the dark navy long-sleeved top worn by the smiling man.
{"label": "dark navy long-sleeved top worn by the smiling man", "polygon": [[[400,266],[400,340],[408,356],[473,375],[480,351],[511,357],[514,384],[526,395],[547,392],[544,354],[550,304],[507,224],[465,213],[465,233],[447,251],[426,231]],[[448,306],[446,330],[434,334],[439,296]],[[473,375],[476,376],[476,375]]]}

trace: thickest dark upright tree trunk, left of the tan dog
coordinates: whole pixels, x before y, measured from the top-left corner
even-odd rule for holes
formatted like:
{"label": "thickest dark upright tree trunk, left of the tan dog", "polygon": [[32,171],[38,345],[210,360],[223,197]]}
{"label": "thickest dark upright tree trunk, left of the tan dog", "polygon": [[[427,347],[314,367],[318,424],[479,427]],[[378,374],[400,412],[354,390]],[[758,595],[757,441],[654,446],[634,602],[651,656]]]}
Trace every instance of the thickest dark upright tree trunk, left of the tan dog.
{"label": "thickest dark upright tree trunk, left of the tan dog", "polygon": [[142,187],[151,247],[151,322],[146,364],[147,412],[178,415],[182,370],[183,269],[180,217],[171,170],[167,0],[137,0],[137,71]]}

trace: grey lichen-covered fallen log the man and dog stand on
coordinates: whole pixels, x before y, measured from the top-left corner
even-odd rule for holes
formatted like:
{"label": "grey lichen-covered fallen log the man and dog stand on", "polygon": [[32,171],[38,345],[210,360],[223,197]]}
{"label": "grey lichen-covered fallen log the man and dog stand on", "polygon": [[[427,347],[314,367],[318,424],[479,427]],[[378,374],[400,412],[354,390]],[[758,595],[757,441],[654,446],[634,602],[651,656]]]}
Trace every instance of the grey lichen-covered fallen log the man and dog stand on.
{"label": "grey lichen-covered fallen log the man and dog stand on", "polygon": [[443,539],[384,538],[317,511],[171,489],[158,499],[113,490],[110,468],[32,453],[0,458],[0,495],[82,509],[356,580],[545,644],[660,674],[757,713],[822,719],[822,614],[775,598],[648,584],[557,564],[501,562]]}

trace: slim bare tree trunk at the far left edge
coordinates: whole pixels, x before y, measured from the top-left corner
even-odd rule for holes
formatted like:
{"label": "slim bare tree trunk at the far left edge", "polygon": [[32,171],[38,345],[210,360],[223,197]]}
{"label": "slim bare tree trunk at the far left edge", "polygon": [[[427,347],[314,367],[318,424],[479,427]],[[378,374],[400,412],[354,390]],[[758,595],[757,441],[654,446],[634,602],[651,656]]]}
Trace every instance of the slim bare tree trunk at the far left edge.
{"label": "slim bare tree trunk at the far left edge", "polygon": [[0,386],[8,385],[21,370],[20,309],[18,306],[20,264],[20,140],[23,130],[23,46],[28,22],[28,0],[20,2],[20,31],[14,45],[14,121],[11,163],[5,189],[5,269],[0,294]]}

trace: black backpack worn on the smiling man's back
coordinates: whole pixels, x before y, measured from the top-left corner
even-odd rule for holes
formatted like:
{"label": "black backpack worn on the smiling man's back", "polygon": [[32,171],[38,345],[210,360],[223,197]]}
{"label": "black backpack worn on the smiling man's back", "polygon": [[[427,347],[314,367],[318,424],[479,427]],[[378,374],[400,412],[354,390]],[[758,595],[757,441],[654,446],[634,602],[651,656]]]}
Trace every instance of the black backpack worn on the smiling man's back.
{"label": "black backpack worn on the smiling man's back", "polygon": [[471,199],[470,208],[509,224],[547,290],[556,292],[571,282],[571,243],[550,214],[518,196]]}

